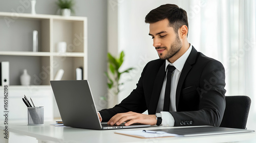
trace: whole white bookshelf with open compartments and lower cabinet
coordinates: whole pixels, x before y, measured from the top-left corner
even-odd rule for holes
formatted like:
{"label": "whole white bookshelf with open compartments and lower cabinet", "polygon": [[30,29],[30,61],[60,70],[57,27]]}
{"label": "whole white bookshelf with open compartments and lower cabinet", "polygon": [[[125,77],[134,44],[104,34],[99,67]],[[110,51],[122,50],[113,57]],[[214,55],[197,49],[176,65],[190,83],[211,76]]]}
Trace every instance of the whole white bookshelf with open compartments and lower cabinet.
{"label": "whole white bookshelf with open compartments and lower cabinet", "polygon": [[[33,52],[33,30],[38,31],[38,52]],[[60,41],[67,43],[66,53],[57,52]],[[87,17],[0,12],[0,61],[10,62],[9,120],[27,120],[24,94],[44,106],[45,120],[52,120],[56,107],[50,81],[59,69],[64,70],[61,80],[75,80],[77,67],[88,79],[87,43]],[[31,76],[30,86],[20,85],[24,69]],[[1,107],[2,100],[0,96]]]}

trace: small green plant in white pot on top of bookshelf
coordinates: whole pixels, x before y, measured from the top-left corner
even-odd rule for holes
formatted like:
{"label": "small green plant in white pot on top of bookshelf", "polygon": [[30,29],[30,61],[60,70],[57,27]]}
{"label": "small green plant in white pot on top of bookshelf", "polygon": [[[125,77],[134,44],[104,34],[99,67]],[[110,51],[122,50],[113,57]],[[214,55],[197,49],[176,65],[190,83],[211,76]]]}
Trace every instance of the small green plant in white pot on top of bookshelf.
{"label": "small green plant in white pot on top of bookshelf", "polygon": [[56,2],[57,6],[59,7],[61,14],[63,16],[70,16],[71,13],[75,13],[74,11],[74,0],[58,0]]}

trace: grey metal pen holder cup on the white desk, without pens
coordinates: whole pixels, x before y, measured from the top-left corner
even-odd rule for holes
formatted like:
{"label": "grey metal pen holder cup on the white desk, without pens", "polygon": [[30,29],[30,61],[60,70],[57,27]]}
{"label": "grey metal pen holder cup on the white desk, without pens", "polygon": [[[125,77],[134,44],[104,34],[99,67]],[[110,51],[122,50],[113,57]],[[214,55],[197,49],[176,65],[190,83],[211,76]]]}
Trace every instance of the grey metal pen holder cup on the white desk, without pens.
{"label": "grey metal pen holder cup on the white desk, without pens", "polygon": [[44,107],[28,107],[28,125],[44,125]]}

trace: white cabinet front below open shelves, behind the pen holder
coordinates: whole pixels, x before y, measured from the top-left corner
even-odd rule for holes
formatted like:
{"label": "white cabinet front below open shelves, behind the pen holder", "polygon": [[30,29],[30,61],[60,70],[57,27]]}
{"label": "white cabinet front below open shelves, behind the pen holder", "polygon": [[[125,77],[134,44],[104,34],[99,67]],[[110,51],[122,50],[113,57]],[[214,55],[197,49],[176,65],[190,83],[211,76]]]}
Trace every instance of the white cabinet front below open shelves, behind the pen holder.
{"label": "white cabinet front below open shelves, behind the pen holder", "polygon": [[[1,87],[1,86],[0,86]],[[23,122],[28,121],[27,107],[23,103],[24,95],[32,98],[35,106],[45,107],[45,121],[53,120],[53,92],[51,86],[9,86],[9,111],[8,121]],[[0,88],[0,92],[4,92],[4,88]],[[0,96],[0,100],[4,101],[4,96]],[[29,99],[30,100],[30,99]],[[4,102],[0,102],[0,106],[4,107]],[[4,116],[0,116],[0,121],[4,121]]]}

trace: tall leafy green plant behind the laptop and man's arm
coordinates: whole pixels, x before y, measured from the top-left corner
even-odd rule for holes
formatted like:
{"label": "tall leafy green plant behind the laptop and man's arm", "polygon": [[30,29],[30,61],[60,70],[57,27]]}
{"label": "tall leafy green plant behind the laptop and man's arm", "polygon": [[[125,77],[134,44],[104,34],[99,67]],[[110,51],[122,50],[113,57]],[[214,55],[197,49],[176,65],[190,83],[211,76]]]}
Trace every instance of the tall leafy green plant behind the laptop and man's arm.
{"label": "tall leafy green plant behind the laptop and man's arm", "polygon": [[[113,107],[117,104],[118,100],[118,93],[120,92],[119,86],[123,84],[123,82],[120,82],[120,77],[124,73],[129,73],[133,67],[127,68],[123,71],[120,71],[120,67],[123,63],[124,58],[124,52],[122,51],[118,57],[112,56],[110,53],[108,53],[108,72],[105,72],[106,77],[108,78],[108,107]],[[111,96],[111,97],[110,97]],[[106,100],[105,97],[102,97],[103,100]]]}

